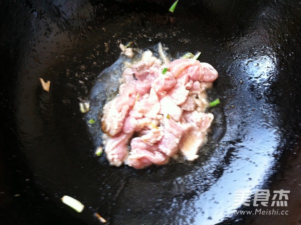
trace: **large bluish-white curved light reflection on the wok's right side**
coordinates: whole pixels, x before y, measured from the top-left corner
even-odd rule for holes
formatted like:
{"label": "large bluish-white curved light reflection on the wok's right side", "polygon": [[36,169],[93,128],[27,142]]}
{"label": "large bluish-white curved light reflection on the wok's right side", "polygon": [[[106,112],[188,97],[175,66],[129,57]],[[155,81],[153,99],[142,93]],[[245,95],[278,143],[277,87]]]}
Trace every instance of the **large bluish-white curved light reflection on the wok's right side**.
{"label": "large bluish-white curved light reflection on the wok's right side", "polygon": [[[235,61],[237,66],[230,67],[232,71],[229,72],[236,74],[236,78],[243,80],[243,83],[231,98],[236,107],[228,115],[227,132],[220,143],[225,155],[213,157],[196,174],[213,174],[216,170],[213,165],[222,164],[221,161],[229,157],[227,155],[231,155],[227,159],[230,163],[224,162],[221,176],[212,180],[210,188],[201,190],[199,195],[183,202],[178,214],[179,220],[196,224],[221,222],[224,218],[233,216],[234,210],[241,206],[234,204],[236,191],[249,190],[252,195],[271,174],[275,163],[273,154],[281,144],[282,134],[276,106],[266,96],[277,77],[277,60],[270,50],[265,53],[254,53],[248,59]],[[245,89],[250,90],[249,94],[245,93]],[[258,93],[261,97],[258,97]],[[236,122],[231,123],[234,118]],[[236,136],[242,139],[233,141]],[[230,149],[231,154],[227,154]],[[211,169],[208,169],[210,166]],[[190,178],[184,183],[196,183],[197,179]]]}

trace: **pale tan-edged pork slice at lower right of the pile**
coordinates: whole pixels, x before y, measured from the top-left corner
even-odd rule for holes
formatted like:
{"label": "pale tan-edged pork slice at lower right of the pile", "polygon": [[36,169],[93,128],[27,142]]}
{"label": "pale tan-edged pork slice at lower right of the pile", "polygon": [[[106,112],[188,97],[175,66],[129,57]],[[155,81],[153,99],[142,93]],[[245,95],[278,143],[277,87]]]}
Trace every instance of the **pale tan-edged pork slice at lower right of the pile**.
{"label": "pale tan-edged pork slice at lower right of the pile", "polygon": [[197,110],[183,113],[183,119],[192,125],[191,129],[182,137],[180,151],[190,161],[197,159],[199,148],[206,142],[206,133],[213,121],[212,114],[199,113]]}

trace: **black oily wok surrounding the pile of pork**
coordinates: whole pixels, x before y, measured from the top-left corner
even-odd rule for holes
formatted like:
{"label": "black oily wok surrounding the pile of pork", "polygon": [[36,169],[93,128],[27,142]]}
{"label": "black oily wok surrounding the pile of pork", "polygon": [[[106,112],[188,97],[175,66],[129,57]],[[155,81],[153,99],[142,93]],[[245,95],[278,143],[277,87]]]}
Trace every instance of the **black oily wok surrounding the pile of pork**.
{"label": "black oily wok surrounding the pile of pork", "polygon": [[[99,224],[94,212],[108,224],[300,223],[300,3],[180,0],[174,14],[172,3],[0,2],[2,224]],[[129,41],[174,58],[201,51],[218,70],[208,94],[221,104],[195,162],[134,170],[94,157],[79,102]],[[239,189],[290,190],[289,215],[233,215]]]}

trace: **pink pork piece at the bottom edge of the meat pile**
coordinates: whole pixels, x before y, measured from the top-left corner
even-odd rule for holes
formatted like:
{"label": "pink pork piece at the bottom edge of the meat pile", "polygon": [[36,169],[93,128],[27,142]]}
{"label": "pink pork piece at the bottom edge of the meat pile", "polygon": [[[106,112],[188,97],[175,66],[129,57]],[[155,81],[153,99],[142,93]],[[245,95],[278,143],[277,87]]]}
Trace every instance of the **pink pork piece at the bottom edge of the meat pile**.
{"label": "pink pork piece at the bottom edge of the meat pile", "polygon": [[136,169],[142,169],[152,164],[164,165],[169,161],[169,157],[158,151],[157,146],[147,145],[142,138],[133,138],[130,146],[131,151],[125,163]]}

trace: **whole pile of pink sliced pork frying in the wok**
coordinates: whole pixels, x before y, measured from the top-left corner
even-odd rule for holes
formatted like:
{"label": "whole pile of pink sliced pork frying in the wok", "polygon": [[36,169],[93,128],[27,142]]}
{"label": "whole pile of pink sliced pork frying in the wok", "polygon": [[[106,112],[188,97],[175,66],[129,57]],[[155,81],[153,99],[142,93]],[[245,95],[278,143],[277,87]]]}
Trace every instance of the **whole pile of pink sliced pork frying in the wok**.
{"label": "whole pile of pink sliced pork frying in the wok", "polygon": [[[111,165],[164,165],[179,148],[188,160],[198,157],[213,120],[213,115],[199,113],[208,104],[204,90],[218,74],[210,64],[192,59],[167,67],[162,74],[154,60],[139,61],[123,71],[119,95],[103,108],[102,129],[110,136],[105,153]],[[138,137],[131,139],[128,153],[134,134]]]}

